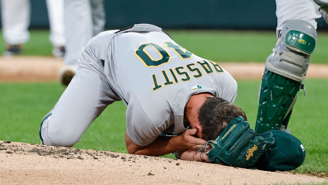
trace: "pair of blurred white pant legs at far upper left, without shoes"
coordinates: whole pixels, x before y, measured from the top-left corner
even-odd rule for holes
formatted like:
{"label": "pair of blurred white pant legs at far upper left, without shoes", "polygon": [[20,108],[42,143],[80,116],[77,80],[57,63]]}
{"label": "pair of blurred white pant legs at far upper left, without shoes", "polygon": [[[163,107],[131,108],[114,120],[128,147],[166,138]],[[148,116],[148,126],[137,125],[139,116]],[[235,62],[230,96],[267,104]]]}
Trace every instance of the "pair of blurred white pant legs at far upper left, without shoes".
{"label": "pair of blurred white pant legs at far upper left, without shoes", "polygon": [[[50,23],[50,41],[53,46],[65,44],[64,0],[47,0]],[[29,0],[1,0],[2,31],[8,44],[24,44],[29,41],[31,5]]]}

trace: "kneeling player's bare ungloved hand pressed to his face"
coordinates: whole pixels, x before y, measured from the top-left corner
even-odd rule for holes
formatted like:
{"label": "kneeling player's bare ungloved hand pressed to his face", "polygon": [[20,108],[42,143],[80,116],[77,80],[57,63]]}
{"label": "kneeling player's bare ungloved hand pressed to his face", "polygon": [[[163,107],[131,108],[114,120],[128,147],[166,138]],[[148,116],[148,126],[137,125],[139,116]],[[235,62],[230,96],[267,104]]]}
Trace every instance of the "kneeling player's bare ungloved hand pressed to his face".
{"label": "kneeling player's bare ungloved hand pressed to his face", "polygon": [[[197,129],[187,129],[181,136],[179,137],[179,144],[183,149],[189,149],[189,150],[198,150],[201,148],[206,141],[200,138],[196,138],[194,135],[196,135],[198,132]],[[207,146],[206,149],[210,149],[210,146]],[[204,150],[204,149],[202,149]]]}

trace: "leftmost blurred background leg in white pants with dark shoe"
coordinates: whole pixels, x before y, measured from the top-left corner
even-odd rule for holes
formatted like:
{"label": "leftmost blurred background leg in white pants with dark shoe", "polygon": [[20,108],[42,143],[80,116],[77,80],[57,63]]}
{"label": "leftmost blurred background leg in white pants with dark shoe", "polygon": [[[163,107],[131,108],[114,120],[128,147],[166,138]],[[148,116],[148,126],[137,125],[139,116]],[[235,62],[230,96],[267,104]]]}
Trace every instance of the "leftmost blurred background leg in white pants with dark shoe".
{"label": "leftmost blurred background leg in white pants with dark shoe", "polygon": [[4,55],[19,54],[21,45],[30,39],[30,12],[29,0],[1,1],[2,31],[7,43]]}

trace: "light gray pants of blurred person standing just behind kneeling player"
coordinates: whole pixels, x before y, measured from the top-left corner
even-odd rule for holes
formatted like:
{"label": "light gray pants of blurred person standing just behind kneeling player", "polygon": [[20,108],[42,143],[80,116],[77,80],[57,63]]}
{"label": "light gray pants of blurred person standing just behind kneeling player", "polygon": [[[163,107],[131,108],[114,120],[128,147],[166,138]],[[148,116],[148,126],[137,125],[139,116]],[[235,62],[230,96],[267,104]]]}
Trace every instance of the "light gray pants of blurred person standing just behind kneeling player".
{"label": "light gray pants of blurred person standing just behind kneeling player", "polygon": [[105,13],[102,0],[64,0],[66,65],[77,65],[82,48],[102,32]]}

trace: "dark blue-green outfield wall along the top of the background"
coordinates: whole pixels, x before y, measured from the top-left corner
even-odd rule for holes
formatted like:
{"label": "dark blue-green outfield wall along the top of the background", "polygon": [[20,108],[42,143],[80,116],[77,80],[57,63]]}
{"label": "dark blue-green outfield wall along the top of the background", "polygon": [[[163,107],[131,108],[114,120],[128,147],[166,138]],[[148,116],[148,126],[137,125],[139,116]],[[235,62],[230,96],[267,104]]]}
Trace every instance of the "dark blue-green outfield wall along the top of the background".
{"label": "dark blue-green outfield wall along the top of the background", "polygon": [[[275,30],[274,0],[104,0],[106,28],[151,23],[169,29]],[[31,0],[31,28],[49,28],[45,0]],[[321,18],[318,29],[328,29]]]}

